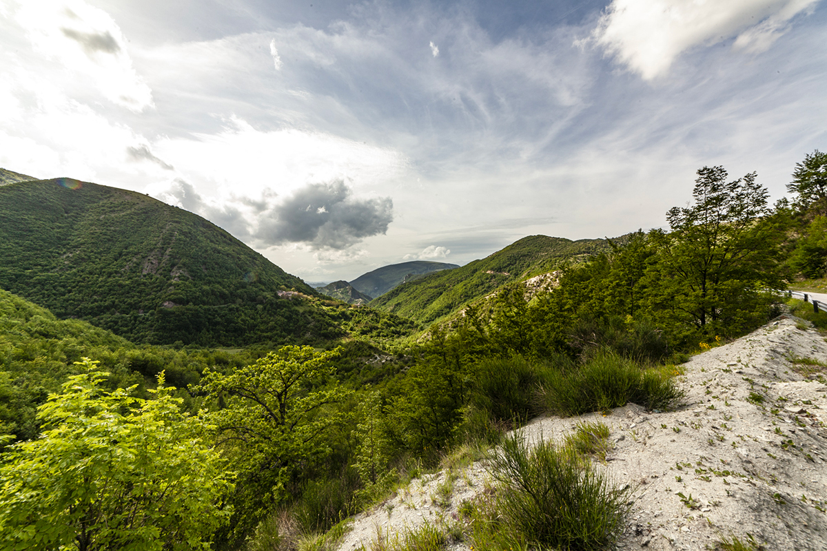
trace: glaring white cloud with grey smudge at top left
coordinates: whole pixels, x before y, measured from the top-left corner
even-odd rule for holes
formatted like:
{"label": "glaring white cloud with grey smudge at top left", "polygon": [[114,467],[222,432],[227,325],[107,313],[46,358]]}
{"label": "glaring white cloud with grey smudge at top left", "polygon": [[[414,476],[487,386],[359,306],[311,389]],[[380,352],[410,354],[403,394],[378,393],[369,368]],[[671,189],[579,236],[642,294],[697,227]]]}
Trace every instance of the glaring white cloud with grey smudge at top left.
{"label": "glaring white cloud with grey smudge at top left", "polygon": [[151,89],[133,68],[127,40],[107,12],[82,0],[20,3],[17,23],[34,50],[56,59],[81,81],[90,79],[117,105],[134,112],[153,106]]}

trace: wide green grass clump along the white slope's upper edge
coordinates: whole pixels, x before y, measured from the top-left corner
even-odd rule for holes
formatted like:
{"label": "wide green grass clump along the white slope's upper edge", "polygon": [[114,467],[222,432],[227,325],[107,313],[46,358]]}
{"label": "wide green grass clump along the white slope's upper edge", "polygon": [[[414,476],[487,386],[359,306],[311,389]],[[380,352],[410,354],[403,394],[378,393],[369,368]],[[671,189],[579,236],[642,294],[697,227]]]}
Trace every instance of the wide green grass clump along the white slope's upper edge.
{"label": "wide green grass clump along the white slope's upper edge", "polygon": [[[676,373],[676,372],[674,372]],[[549,410],[580,415],[625,406],[667,409],[683,396],[667,368],[641,368],[631,359],[604,352],[581,366],[547,374],[543,395]]]}

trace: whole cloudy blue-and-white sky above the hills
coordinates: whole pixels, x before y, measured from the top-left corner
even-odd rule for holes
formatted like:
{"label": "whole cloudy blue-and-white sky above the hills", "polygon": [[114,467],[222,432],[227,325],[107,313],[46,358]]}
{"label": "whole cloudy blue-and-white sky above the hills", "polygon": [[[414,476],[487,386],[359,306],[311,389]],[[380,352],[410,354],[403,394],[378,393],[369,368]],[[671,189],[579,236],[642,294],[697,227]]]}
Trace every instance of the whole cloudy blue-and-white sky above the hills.
{"label": "whole cloudy blue-and-white sky above the hills", "polygon": [[0,167],[144,192],[308,282],[772,200],[827,150],[822,0],[0,0]]}

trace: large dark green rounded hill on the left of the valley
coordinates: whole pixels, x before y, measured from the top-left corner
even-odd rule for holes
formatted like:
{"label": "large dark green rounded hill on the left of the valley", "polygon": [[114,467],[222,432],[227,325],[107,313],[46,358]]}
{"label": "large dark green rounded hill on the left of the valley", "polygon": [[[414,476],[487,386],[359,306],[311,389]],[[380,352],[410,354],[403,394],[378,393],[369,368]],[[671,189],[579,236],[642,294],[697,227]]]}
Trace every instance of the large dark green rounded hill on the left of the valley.
{"label": "large dark green rounded hill on the left of the valley", "polygon": [[69,178],[0,187],[0,287],[134,342],[344,335],[313,289],[211,222]]}

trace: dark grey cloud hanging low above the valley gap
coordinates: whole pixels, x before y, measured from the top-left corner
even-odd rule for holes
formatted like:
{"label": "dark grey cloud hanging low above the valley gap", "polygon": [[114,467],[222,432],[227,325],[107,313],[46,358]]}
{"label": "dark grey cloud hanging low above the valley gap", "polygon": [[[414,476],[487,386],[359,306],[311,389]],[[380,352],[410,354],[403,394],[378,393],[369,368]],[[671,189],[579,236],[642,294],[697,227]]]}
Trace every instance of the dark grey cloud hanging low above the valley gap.
{"label": "dark grey cloud hanging low above the valley gap", "polygon": [[393,219],[390,197],[357,199],[342,180],[311,183],[272,208],[260,221],[256,238],[265,245],[346,249],[385,234]]}

